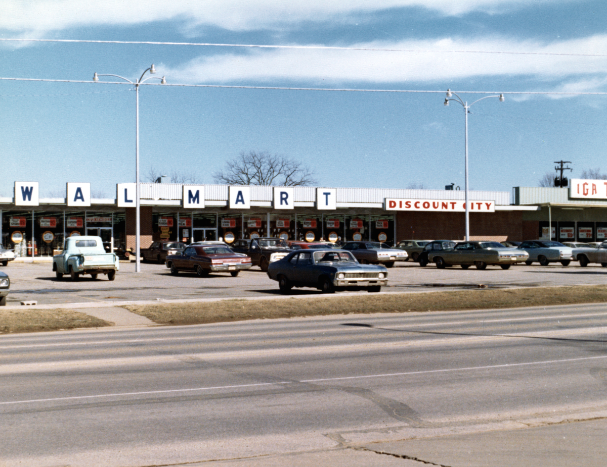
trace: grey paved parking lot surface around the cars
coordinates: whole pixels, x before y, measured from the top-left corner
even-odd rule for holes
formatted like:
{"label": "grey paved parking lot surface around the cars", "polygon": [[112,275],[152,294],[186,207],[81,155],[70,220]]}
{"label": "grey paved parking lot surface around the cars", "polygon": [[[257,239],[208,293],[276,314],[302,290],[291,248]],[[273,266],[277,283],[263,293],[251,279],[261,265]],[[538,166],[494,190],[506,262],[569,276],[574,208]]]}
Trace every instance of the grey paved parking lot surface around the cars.
{"label": "grey paved parking lot surface around the cars", "polygon": [[[121,262],[113,282],[106,276],[93,280],[83,276],[72,282],[69,276],[56,279],[52,263],[12,262],[1,269],[11,279],[7,305],[35,300],[39,305],[87,302],[124,302],[127,300],[175,299],[237,299],[243,297],[278,296],[278,284],[254,267],[242,271],[238,277],[229,274],[211,274],[197,277],[180,273],[172,276],[164,265],[141,264],[141,273],[135,273],[135,263]],[[515,265],[507,271],[488,267],[484,271],[459,267],[438,270],[433,265],[425,268],[417,263],[401,262],[388,270],[387,292],[427,292],[463,290],[468,288],[511,288],[559,285],[602,285],[607,281],[607,268],[577,262],[568,267],[556,263],[547,267]],[[365,293],[365,292],[361,292]],[[308,288],[294,289],[291,296],[320,294]]]}

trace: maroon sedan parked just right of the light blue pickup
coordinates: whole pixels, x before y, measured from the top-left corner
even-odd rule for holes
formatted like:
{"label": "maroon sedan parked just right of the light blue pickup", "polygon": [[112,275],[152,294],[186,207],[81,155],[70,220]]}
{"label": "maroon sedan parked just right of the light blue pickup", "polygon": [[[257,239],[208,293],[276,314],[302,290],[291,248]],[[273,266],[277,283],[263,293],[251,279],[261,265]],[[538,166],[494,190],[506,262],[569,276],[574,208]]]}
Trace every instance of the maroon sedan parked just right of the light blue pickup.
{"label": "maroon sedan parked just right of the light blue pickup", "polygon": [[251,258],[246,254],[234,253],[222,245],[188,245],[180,254],[166,257],[166,267],[174,275],[179,271],[196,273],[198,277],[208,276],[211,272],[226,272],[236,277],[240,271],[252,266]]}

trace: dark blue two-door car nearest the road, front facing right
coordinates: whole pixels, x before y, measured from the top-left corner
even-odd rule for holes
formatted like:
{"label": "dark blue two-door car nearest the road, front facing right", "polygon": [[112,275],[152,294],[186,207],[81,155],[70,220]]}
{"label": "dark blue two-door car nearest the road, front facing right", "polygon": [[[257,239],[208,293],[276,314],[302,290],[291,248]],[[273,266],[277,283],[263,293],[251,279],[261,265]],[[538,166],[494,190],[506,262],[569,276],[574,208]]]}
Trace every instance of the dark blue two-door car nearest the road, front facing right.
{"label": "dark blue two-door car nearest the road, front facing right", "polygon": [[324,293],[336,290],[379,292],[388,283],[384,266],[359,263],[350,251],[298,250],[270,263],[268,277],[282,293],[292,287],[313,287]]}

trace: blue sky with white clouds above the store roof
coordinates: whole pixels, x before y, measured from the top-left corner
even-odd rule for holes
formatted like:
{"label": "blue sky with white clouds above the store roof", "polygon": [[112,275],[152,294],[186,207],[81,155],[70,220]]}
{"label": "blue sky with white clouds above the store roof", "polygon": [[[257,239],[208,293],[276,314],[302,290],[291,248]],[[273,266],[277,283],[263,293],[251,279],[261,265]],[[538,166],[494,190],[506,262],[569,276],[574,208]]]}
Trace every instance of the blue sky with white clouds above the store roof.
{"label": "blue sky with white clouds above the store roof", "polygon": [[474,102],[470,189],[538,186],[561,160],[570,178],[607,173],[606,17],[604,0],[2,0],[0,196],[134,182],[134,86],[92,78],[151,64],[144,79],[167,84],[140,86],[141,181],[212,184],[266,151],[322,187],[463,190],[464,107],[447,89]]}

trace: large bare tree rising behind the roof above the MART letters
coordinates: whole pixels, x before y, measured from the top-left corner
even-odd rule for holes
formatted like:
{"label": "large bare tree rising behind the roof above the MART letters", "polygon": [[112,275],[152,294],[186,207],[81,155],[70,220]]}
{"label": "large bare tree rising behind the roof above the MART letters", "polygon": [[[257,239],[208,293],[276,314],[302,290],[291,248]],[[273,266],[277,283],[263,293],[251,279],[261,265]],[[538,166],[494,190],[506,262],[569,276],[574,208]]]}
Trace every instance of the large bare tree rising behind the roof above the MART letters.
{"label": "large bare tree rising behind the roof above the MART letters", "polygon": [[215,182],[226,185],[279,185],[296,187],[316,184],[314,172],[302,162],[278,154],[242,151],[213,174]]}

